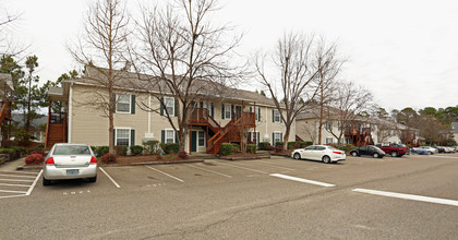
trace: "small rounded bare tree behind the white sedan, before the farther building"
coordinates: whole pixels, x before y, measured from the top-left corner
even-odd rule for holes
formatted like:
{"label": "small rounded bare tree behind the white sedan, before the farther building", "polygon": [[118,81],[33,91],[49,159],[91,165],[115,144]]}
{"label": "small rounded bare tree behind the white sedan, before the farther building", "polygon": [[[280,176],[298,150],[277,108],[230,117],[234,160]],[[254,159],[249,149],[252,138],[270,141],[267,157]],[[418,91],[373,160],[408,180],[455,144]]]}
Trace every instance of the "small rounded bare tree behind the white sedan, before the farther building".
{"label": "small rounded bare tree behind the white sedan, before the farther building", "polygon": [[369,89],[352,82],[342,82],[337,86],[334,93],[336,98],[326,108],[324,115],[327,119],[338,121],[337,130],[335,128],[326,128],[326,130],[337,139],[340,145],[345,131],[353,122],[365,121],[361,113],[373,107],[373,95]]}

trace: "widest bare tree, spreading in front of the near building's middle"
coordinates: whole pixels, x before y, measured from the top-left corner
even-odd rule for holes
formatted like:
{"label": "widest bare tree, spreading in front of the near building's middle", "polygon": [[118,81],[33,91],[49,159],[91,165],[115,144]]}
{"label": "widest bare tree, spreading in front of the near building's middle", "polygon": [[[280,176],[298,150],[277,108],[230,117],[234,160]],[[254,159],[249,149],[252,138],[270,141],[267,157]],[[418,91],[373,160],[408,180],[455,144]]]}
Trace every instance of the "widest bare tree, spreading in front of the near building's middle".
{"label": "widest bare tree, spreading in front of the near building's middle", "polygon": [[[140,77],[140,87],[160,103],[165,118],[179,133],[180,152],[184,151],[192,104],[205,95],[218,95],[222,85],[243,74],[243,68],[230,64],[241,36],[225,41],[232,28],[210,24],[218,9],[216,0],[179,0],[164,9],[142,8],[143,19],[137,23],[140,50],[134,68],[153,76]],[[167,110],[166,95],[174,99],[176,112]]]}

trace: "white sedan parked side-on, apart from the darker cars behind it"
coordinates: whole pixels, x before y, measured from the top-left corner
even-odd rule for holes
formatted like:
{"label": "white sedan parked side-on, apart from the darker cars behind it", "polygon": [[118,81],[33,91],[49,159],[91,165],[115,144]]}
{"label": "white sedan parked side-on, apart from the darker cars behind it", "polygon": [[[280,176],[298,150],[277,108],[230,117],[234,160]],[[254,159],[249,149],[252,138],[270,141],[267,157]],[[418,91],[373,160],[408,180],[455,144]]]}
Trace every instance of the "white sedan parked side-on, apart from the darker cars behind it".
{"label": "white sedan parked side-on, apart from the darker cars behind it", "polygon": [[321,160],[325,164],[347,159],[343,151],[326,145],[312,145],[305,148],[294,149],[291,153],[291,157],[294,159]]}

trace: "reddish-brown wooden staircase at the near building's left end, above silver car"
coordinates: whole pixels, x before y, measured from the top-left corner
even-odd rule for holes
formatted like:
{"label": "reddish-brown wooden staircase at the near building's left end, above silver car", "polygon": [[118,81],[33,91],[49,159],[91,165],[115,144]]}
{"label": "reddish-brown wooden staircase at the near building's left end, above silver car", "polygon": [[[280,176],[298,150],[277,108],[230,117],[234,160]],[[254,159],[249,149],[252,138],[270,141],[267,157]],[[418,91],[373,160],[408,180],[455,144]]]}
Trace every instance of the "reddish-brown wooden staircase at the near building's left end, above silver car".
{"label": "reddish-brown wooden staircase at the near building's left end, above silver car", "polygon": [[49,113],[46,128],[45,149],[50,149],[56,143],[65,142],[67,115],[65,112]]}

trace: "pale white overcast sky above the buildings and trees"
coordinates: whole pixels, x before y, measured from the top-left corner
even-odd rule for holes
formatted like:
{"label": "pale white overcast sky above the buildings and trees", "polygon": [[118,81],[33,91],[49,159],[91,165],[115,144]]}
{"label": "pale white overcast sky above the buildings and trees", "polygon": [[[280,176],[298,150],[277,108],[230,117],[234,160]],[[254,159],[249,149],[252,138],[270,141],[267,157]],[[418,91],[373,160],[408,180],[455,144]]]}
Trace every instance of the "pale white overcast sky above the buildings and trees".
{"label": "pale white overcast sky above the buildings and trees", "polygon": [[[80,69],[65,43],[82,29],[95,0],[0,0],[22,12],[14,37],[31,44],[41,80]],[[162,0],[160,0],[162,1]],[[154,2],[154,1],[150,1]],[[164,1],[162,1],[164,2]],[[129,0],[134,8],[136,0]],[[301,31],[336,41],[349,60],[342,77],[371,89],[387,108],[458,105],[457,0],[225,0],[215,16],[244,32],[239,52],[270,50]],[[3,12],[2,12],[3,14]]]}

